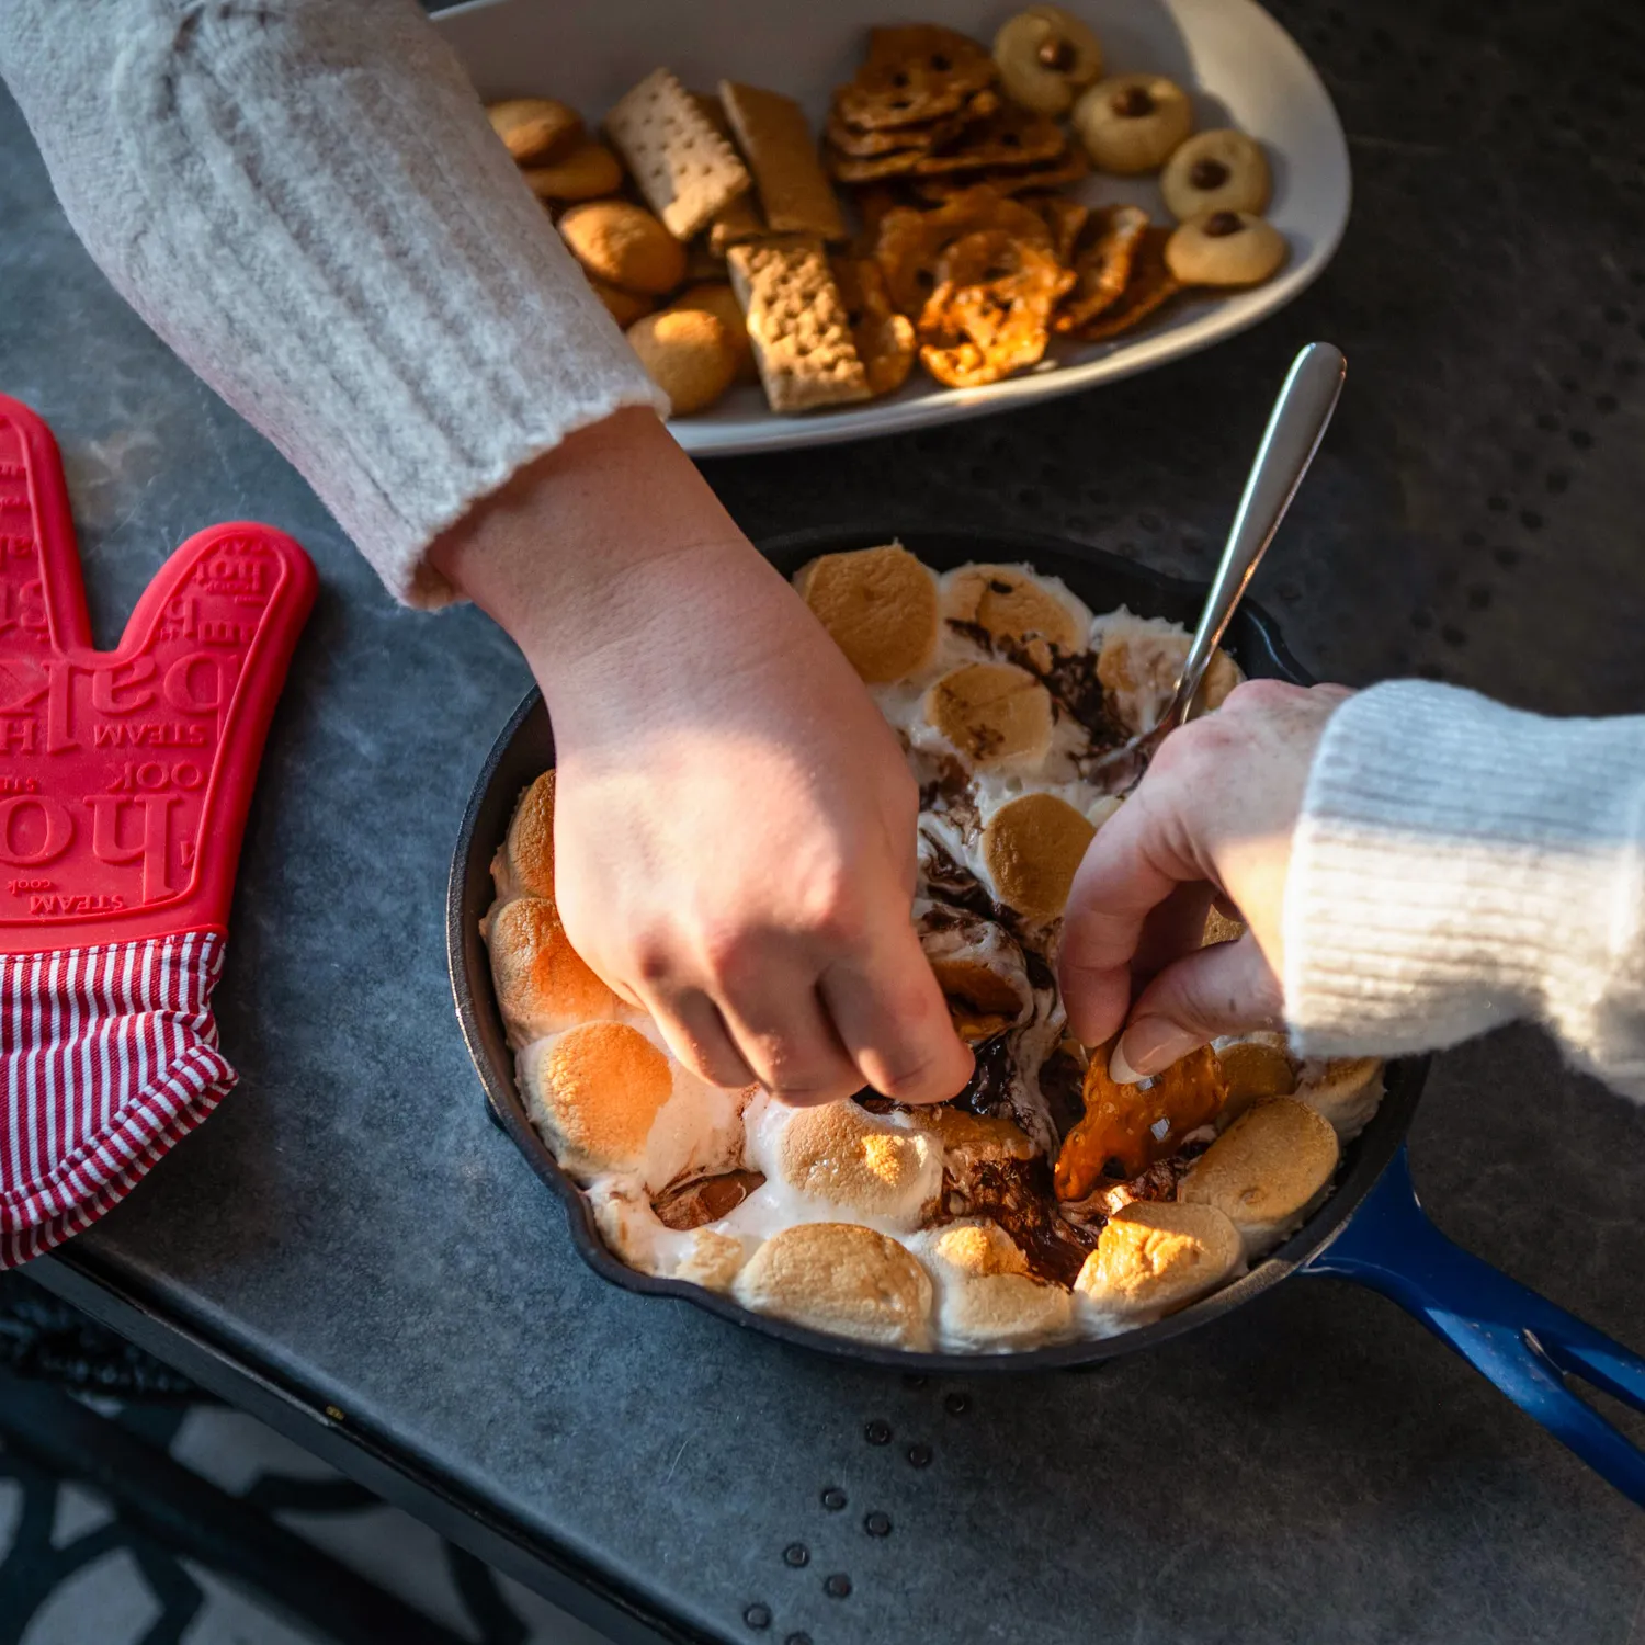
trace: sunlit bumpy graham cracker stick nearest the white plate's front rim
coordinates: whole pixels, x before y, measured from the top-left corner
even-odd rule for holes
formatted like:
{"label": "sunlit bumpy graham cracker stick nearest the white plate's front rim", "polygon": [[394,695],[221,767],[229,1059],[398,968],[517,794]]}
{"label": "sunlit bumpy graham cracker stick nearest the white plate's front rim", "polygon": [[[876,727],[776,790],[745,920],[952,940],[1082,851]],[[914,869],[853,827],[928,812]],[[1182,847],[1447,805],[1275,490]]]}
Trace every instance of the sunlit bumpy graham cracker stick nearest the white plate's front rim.
{"label": "sunlit bumpy graham cracker stick nearest the white plate's front rim", "polygon": [[850,339],[821,239],[791,235],[734,245],[725,266],[773,411],[870,398],[869,373]]}

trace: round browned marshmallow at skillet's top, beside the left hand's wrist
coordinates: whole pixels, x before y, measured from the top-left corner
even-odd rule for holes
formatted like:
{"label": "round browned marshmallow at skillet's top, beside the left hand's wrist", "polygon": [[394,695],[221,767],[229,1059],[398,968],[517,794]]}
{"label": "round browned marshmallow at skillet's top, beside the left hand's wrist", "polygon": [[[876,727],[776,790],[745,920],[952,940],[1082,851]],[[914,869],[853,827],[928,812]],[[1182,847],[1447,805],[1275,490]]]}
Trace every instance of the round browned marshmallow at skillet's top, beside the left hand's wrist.
{"label": "round browned marshmallow at skillet's top, beside the left hand's wrist", "polygon": [[936,651],[936,581],[898,543],[822,554],[795,587],[870,686],[918,673]]}

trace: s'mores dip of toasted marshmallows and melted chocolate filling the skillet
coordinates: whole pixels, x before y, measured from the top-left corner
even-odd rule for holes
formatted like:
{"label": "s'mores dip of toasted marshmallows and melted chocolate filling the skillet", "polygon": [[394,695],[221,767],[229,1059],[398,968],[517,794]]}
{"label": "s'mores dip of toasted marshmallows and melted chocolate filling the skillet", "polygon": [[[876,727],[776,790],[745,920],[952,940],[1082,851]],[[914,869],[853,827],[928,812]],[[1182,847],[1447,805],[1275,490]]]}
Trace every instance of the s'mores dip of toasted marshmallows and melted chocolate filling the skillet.
{"label": "s'mores dip of toasted marshmallows and melted chocolate filling the skillet", "polygon": [[[1068,1030],[1079,860],[1124,804],[1099,757],[1148,729],[1188,633],[1092,612],[1028,566],[934,572],[897,543],[795,587],[920,785],[910,916],[975,1073],[952,1102],[790,1107],[683,1068],[554,906],[554,773],[492,864],[492,977],[526,1112],[625,1263],[880,1347],[1007,1354],[1150,1324],[1245,1273],[1331,1193],[1377,1061],[1219,1040],[1138,1084]],[[1240,681],[1217,653],[1202,706]],[[1239,934],[1214,916],[1207,941]]]}

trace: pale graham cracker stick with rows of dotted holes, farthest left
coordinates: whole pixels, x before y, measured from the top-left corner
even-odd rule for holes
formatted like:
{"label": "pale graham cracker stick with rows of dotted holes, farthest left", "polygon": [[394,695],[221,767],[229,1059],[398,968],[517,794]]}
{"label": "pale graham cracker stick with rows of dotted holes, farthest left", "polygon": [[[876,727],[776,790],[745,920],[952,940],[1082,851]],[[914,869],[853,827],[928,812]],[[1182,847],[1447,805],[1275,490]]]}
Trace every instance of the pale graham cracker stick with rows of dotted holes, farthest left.
{"label": "pale graham cracker stick with rows of dotted holes, farthest left", "polygon": [[653,69],[605,115],[605,133],[646,204],[678,240],[753,186],[737,150],[668,69]]}

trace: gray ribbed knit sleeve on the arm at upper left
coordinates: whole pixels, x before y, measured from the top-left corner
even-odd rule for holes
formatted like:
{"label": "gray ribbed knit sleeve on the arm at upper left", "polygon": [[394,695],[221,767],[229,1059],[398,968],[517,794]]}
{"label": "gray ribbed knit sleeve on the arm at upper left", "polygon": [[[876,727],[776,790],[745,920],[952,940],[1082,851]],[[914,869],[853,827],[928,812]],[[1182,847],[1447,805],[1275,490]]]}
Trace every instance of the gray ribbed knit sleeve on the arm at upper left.
{"label": "gray ribbed knit sleeve on the arm at upper left", "polygon": [[426,546],[521,464],[665,408],[413,0],[5,0],[0,74],[102,270],[400,599],[451,599]]}

